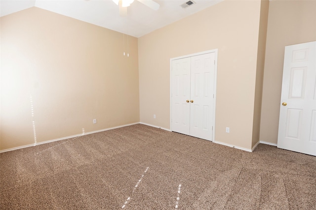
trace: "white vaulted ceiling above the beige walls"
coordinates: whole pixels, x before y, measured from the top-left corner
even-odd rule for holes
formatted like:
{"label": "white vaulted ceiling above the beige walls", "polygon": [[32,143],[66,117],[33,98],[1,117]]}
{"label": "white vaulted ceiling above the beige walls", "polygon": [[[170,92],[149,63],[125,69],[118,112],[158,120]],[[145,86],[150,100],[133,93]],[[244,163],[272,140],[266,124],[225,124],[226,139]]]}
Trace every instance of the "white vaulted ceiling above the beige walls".
{"label": "white vaulted ceiling above the beige walls", "polygon": [[120,17],[118,5],[112,0],[0,0],[0,16],[36,6],[107,29],[140,37],[222,0],[194,0],[196,4],[185,9],[180,5],[188,0],[155,1],[160,4],[158,11],[135,0],[127,7],[127,16]]}

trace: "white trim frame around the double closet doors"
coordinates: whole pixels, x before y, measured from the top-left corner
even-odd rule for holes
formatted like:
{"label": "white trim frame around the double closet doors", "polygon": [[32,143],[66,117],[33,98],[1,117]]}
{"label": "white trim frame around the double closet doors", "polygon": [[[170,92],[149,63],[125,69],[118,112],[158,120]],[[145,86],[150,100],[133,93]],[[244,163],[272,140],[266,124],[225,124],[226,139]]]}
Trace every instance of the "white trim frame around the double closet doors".
{"label": "white trim frame around the double closet doors", "polygon": [[173,60],[178,60],[178,59],[184,59],[184,58],[188,58],[188,57],[193,57],[193,56],[199,56],[199,55],[203,55],[203,54],[208,54],[208,53],[215,53],[215,66],[214,66],[214,100],[213,100],[213,135],[212,135],[212,141],[214,141],[215,138],[215,111],[216,111],[216,81],[217,81],[217,54],[218,54],[218,49],[213,49],[213,50],[207,50],[207,51],[203,51],[203,52],[198,52],[198,53],[194,53],[194,54],[190,54],[190,55],[185,55],[185,56],[179,56],[176,58],[171,58],[170,59],[170,131],[172,131],[172,61]]}

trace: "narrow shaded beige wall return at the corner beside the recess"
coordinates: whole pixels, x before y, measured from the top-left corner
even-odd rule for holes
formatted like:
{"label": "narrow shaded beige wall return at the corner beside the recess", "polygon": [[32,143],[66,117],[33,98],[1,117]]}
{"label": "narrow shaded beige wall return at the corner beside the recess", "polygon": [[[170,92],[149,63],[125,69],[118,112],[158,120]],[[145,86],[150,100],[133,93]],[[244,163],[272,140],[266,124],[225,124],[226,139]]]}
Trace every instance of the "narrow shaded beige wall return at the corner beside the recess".
{"label": "narrow shaded beige wall return at the corner beside the recess", "polygon": [[266,53],[268,13],[269,13],[269,0],[262,0],[261,8],[260,8],[257,73],[256,73],[256,87],[255,87],[251,148],[254,148],[256,146],[256,144],[259,142],[259,136],[260,136],[260,118],[261,118],[261,103],[262,103],[261,99],[262,99],[263,71],[264,71],[265,53]]}

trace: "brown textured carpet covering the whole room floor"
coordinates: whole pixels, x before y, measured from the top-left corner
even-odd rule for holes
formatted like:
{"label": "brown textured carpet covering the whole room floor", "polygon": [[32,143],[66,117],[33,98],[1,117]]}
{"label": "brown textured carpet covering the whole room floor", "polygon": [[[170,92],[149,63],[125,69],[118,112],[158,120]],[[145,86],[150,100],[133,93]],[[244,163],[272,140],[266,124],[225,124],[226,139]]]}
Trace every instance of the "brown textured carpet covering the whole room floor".
{"label": "brown textured carpet covering the whole room floor", "polygon": [[0,153],[1,210],[316,210],[316,157],[136,124]]}

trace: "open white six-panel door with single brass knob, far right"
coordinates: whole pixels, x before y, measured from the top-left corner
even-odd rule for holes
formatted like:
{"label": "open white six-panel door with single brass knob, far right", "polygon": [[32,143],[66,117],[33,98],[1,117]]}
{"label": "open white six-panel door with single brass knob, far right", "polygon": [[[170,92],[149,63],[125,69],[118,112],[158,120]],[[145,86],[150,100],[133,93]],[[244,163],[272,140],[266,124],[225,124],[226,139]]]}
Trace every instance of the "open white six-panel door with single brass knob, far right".
{"label": "open white six-panel door with single brass knob, far right", "polygon": [[285,47],[277,147],[316,156],[316,41]]}

